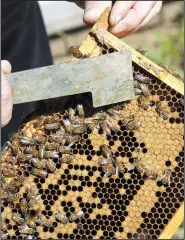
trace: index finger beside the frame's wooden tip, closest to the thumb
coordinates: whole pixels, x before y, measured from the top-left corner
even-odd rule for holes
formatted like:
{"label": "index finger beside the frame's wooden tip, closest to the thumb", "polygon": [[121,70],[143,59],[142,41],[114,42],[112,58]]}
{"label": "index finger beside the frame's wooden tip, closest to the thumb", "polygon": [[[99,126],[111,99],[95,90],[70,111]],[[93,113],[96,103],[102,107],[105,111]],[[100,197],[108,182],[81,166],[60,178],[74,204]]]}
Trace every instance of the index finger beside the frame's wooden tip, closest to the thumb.
{"label": "index finger beside the frame's wooden tip, closest to the thumb", "polygon": [[125,18],[128,11],[137,1],[116,1],[112,7],[109,24],[111,27],[116,26],[122,19]]}

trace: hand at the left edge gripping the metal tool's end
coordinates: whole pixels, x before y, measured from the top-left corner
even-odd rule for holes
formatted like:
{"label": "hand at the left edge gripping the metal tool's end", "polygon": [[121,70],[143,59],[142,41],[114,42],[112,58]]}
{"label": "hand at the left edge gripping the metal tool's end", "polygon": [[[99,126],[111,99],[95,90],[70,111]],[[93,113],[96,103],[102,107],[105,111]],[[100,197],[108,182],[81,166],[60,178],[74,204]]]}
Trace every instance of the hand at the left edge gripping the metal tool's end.
{"label": "hand at the left edge gripping the metal tool's end", "polygon": [[12,91],[5,76],[5,74],[11,72],[11,69],[12,67],[8,61],[1,61],[1,127],[5,127],[12,117]]}

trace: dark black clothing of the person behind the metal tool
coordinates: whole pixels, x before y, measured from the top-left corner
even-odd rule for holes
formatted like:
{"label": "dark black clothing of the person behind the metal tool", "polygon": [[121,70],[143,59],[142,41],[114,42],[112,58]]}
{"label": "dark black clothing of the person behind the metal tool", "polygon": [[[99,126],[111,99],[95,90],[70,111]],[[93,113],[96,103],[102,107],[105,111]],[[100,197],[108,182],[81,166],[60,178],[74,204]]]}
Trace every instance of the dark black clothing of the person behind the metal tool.
{"label": "dark black clothing of the person behind the metal tool", "polygon": [[[48,37],[36,1],[2,0],[1,59],[8,60],[12,72],[52,64]],[[14,105],[11,122],[1,129],[1,146],[8,135],[17,131],[22,117],[35,108],[35,103]]]}

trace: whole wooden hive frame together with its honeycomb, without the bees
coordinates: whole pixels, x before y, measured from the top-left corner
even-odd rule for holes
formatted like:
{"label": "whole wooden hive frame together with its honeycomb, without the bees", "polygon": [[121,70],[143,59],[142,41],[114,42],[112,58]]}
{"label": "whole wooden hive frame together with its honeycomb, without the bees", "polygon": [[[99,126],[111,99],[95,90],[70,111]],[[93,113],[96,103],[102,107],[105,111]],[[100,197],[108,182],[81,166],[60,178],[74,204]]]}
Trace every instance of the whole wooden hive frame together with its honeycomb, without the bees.
{"label": "whole wooden hive frame together with its honeycomb, without the bees", "polygon": [[[129,48],[123,42],[112,36],[108,28],[107,9],[100,20],[95,24],[90,34],[82,43],[80,50],[84,54],[97,56],[99,54],[120,51]],[[129,48],[130,49],[130,48]],[[138,75],[149,78],[147,86],[150,90],[150,106],[145,109],[138,100],[127,102],[126,106],[114,106],[120,109],[121,115],[114,120],[117,130],[104,134],[100,128],[93,133],[88,128],[79,141],[72,146],[74,159],[70,163],[61,163],[60,158],[54,158],[56,171],[47,170],[46,178],[35,177],[30,174],[33,165],[22,167],[17,165],[18,174],[25,176],[19,192],[22,198],[27,198],[26,184],[36,186],[41,199],[30,209],[30,215],[44,214],[51,225],[44,226],[37,223],[34,236],[37,239],[169,239],[183,220],[184,210],[184,107],[182,99],[184,85],[173,75],[158,67],[140,53],[131,49],[133,54],[134,79]],[[76,60],[73,58],[73,60]],[[43,132],[43,113],[51,116],[59,112],[60,117],[66,114],[64,110],[70,106],[84,105],[88,117],[103,111],[110,113],[111,107],[95,110],[88,102],[88,97],[74,96],[66,102],[60,99],[53,104],[40,103],[37,112],[25,119],[21,127],[24,135],[32,138],[35,133]],[[168,119],[162,119],[156,112],[159,103],[165,105]],[[63,104],[63,105],[62,105]],[[114,110],[115,110],[114,108]],[[128,129],[124,119],[135,116],[141,123],[138,129]],[[88,118],[87,117],[87,118]],[[62,121],[60,120],[60,126]],[[55,133],[45,131],[45,134]],[[16,139],[13,135],[10,142]],[[104,177],[99,160],[103,155],[101,146],[111,147],[111,154],[119,162],[119,176],[113,174]],[[35,146],[35,145],[34,145]],[[19,146],[22,150],[24,146]],[[4,148],[2,169],[7,161],[12,160],[12,151],[9,146]],[[38,150],[38,146],[36,146]],[[24,154],[25,156],[25,154]],[[170,182],[148,179],[141,174],[139,167],[131,168],[141,159],[143,165],[149,165],[154,171],[171,169]],[[132,170],[128,170],[128,169]],[[121,173],[122,172],[122,173]],[[8,178],[10,181],[12,178]],[[12,220],[12,213],[22,214],[20,200],[13,206],[3,199],[2,223],[7,225],[4,234],[7,238],[23,239],[19,224]],[[58,211],[64,211],[67,217],[74,212],[83,211],[84,215],[67,224],[60,223],[53,218]],[[2,224],[2,226],[4,226]],[[6,227],[5,227],[6,228]]]}

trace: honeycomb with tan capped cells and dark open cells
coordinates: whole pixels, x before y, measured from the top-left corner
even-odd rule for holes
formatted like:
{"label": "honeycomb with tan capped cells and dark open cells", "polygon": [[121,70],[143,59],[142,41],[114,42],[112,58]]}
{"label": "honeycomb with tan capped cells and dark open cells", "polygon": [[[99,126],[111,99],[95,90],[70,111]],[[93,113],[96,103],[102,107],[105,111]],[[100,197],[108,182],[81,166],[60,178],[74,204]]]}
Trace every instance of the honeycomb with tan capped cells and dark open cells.
{"label": "honeycomb with tan capped cells and dark open cells", "polygon": [[[102,44],[93,34],[91,38],[98,46],[98,54],[117,51],[114,46]],[[2,152],[1,233],[4,239],[161,238],[184,201],[183,95],[135,62],[133,74],[135,82],[138,75],[148,79],[150,105],[147,109],[140,103],[143,92],[135,100],[98,109],[93,109],[90,96],[84,94],[40,102],[37,110],[24,119],[18,133],[23,134],[25,141],[16,142],[19,135],[14,133]],[[106,113],[113,121],[113,127],[106,131],[101,126],[89,125],[78,133],[70,147],[72,160],[64,161],[66,153],[63,150],[57,156],[57,151],[52,149],[55,154],[46,157],[43,153],[46,145],[57,142],[51,140],[52,136],[65,130],[69,108],[75,109],[79,105],[85,112],[85,117],[80,118],[80,111],[76,111],[75,117],[80,124],[81,120],[88,122],[94,116]],[[157,111],[159,105],[165,106],[167,118]],[[119,114],[110,114],[112,109]],[[125,119],[130,116],[134,116],[139,127],[127,127]],[[54,117],[58,119],[54,121],[58,126],[46,129],[45,119]],[[46,140],[32,141],[36,137],[47,138],[47,143]],[[67,143],[59,145],[68,147]],[[100,164],[100,160],[107,159],[102,146],[108,147],[118,166],[118,171],[108,176],[104,165]],[[40,163],[45,164],[50,159],[54,170],[44,165],[42,177],[33,175],[35,165],[26,152],[29,148],[34,149]],[[21,160],[17,157],[20,153]],[[139,166],[136,160],[139,160]],[[146,174],[143,170],[146,168],[158,176],[164,176],[165,171],[170,174],[164,182],[161,178],[151,177],[151,172]],[[16,179],[15,172],[20,179],[17,182],[21,184],[9,200],[4,189]],[[30,188],[35,189],[40,198],[31,207],[27,206],[24,214],[22,203],[24,199],[28,205]],[[22,223],[20,219],[13,219],[16,213]],[[56,219],[57,213],[62,213],[67,221]],[[41,215],[45,220],[39,220]],[[72,219],[74,215],[76,217]],[[33,227],[30,222],[28,224],[30,219]],[[20,229],[28,229],[26,224],[31,232],[23,234]]]}

